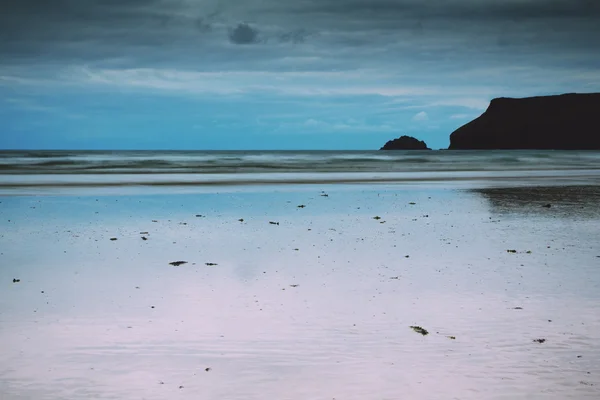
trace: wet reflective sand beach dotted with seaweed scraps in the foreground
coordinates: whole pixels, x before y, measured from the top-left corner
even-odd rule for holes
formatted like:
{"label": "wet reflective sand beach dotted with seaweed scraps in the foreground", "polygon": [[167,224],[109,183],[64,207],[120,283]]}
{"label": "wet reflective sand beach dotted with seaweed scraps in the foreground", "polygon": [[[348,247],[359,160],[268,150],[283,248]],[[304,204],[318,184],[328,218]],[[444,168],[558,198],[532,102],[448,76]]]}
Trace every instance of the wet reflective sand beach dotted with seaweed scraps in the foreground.
{"label": "wet reflective sand beach dotted with seaweed scraps in the foreground", "polygon": [[0,397],[597,399],[599,193],[2,197]]}

